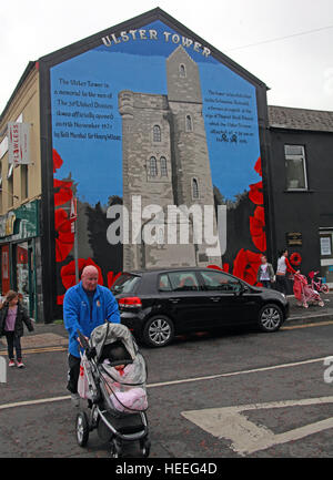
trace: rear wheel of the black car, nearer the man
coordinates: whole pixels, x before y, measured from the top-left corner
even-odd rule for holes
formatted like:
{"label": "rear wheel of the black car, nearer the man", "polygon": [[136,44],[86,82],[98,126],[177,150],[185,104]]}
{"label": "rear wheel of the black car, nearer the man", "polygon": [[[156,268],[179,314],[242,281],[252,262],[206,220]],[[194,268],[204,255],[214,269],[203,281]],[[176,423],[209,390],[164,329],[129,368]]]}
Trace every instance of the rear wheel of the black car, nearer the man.
{"label": "rear wheel of the black car, nearer the man", "polygon": [[150,318],[142,335],[143,341],[149,347],[165,347],[173,339],[173,323],[163,315]]}

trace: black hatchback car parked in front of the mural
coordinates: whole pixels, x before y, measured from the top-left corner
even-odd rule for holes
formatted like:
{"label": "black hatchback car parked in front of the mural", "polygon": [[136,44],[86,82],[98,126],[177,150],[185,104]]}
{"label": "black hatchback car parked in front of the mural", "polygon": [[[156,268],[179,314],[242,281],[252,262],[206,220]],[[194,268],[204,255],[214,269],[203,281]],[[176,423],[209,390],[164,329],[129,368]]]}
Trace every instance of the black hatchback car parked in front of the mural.
{"label": "black hatchback car parked in front of the mural", "polygon": [[289,316],[280,292],[212,268],[128,272],[111,290],[121,323],[151,347],[164,347],[179,334],[224,326],[254,324],[275,331]]}

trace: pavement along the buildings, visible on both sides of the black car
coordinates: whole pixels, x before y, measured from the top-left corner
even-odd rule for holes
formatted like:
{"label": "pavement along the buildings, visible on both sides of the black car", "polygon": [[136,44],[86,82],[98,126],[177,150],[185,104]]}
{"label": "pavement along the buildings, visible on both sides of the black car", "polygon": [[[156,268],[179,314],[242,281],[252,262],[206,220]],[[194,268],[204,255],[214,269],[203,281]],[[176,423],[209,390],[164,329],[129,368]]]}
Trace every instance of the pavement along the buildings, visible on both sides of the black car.
{"label": "pavement along the buildings, visible on both sides of the black car", "polygon": [[[297,302],[293,295],[289,296],[290,302],[290,317],[285,326],[293,326],[300,324],[311,324],[320,321],[333,321],[333,292],[322,295],[324,307],[311,305],[309,308],[297,306]],[[64,350],[68,347],[68,331],[63,323],[57,320],[51,324],[34,324],[33,333],[24,333],[21,339],[23,350],[33,350],[38,348],[39,351],[52,348],[53,350]],[[0,339],[0,355],[6,355],[7,344],[4,338]]]}

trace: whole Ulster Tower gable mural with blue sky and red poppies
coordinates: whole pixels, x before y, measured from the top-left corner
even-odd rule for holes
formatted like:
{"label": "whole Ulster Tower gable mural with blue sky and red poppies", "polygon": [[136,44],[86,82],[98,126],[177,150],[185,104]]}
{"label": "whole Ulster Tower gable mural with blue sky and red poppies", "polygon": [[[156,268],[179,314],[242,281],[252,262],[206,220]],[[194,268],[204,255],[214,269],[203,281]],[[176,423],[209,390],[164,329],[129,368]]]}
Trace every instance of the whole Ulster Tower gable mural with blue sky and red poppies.
{"label": "whole Ulster Tower gable mural with blue sky and red poppies", "polygon": [[79,270],[97,265],[105,286],[128,269],[208,265],[254,284],[265,85],[160,9],[40,65],[53,303],[75,283],[75,241]]}

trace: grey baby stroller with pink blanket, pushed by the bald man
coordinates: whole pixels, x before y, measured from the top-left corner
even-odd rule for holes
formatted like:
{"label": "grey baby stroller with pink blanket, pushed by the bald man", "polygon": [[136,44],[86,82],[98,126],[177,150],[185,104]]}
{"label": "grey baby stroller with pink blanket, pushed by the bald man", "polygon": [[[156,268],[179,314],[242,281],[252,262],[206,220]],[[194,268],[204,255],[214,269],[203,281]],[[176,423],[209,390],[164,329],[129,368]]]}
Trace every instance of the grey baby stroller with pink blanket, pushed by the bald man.
{"label": "grey baby stroller with pink blanket, pushed by the bald man", "polygon": [[124,325],[107,321],[92,331],[89,343],[79,330],[78,335],[84,348],[78,392],[90,409],[77,416],[78,443],[84,447],[97,429],[110,441],[113,458],[122,457],[129,442],[138,442],[140,455],[148,457],[147,368],[132,334]]}

